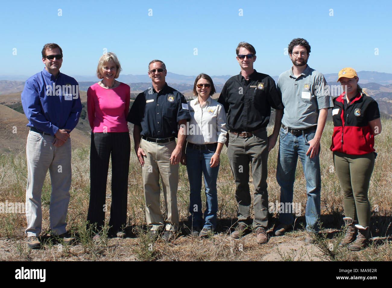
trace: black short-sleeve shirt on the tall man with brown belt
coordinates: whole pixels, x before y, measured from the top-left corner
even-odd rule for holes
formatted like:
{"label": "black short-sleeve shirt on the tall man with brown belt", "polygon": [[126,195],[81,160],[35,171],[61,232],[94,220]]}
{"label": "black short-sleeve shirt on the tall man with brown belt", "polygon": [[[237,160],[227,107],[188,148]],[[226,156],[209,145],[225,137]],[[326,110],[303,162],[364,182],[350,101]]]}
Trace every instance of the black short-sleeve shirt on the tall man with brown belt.
{"label": "black short-sleeve shirt on the tall man with brown belt", "polygon": [[256,70],[245,80],[240,74],[223,86],[218,102],[227,112],[227,127],[232,131],[251,132],[266,127],[271,107],[283,109],[282,95],[274,79]]}

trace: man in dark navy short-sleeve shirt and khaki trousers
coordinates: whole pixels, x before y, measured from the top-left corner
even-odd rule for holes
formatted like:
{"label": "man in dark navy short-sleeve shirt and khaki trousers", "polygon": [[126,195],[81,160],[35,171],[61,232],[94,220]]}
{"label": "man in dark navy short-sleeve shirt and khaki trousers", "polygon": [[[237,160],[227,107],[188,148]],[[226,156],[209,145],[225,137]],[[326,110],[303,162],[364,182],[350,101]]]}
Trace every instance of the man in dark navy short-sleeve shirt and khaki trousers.
{"label": "man in dark navy short-sleeve shirt and khaki trousers", "polygon": [[[169,241],[174,238],[179,225],[178,166],[186,138],[183,127],[190,115],[184,95],[167,85],[166,74],[166,66],[162,61],[152,60],[149,63],[148,75],[152,87],[136,97],[127,121],[134,124],[133,139],[136,155],[142,164],[150,236],[158,236],[166,224],[163,239]],[[166,220],[163,220],[160,209],[159,176],[162,178],[166,202]]]}

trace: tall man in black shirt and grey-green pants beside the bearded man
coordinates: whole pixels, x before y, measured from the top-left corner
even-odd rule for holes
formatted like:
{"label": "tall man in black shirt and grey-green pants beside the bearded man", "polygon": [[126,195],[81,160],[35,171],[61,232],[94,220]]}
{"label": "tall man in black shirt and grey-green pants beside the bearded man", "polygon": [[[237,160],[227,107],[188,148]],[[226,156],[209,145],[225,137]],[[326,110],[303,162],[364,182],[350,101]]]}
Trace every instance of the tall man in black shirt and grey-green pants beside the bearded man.
{"label": "tall man in black shirt and grey-green pants beside the bearded man", "polygon": [[[256,72],[256,50],[249,43],[241,42],[236,49],[241,73],[231,77],[223,86],[218,102],[227,112],[229,146],[227,156],[236,182],[238,203],[238,225],[231,233],[240,238],[250,221],[249,162],[254,184],[254,220],[258,243],[267,243],[268,193],[267,158],[279,135],[280,121],[275,122],[274,131],[267,137],[271,107],[276,115],[283,114],[281,94],[274,80],[267,74]],[[277,119],[280,119],[276,117]]]}

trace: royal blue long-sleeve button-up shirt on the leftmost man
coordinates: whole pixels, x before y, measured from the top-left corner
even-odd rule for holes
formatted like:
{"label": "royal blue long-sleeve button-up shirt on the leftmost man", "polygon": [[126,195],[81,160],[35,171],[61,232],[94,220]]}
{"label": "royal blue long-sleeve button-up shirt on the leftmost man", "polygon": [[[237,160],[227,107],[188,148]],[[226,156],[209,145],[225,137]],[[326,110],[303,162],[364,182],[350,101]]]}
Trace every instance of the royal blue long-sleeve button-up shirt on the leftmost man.
{"label": "royal blue long-sleeve button-up shirt on the leftmost man", "polygon": [[59,73],[54,78],[44,68],[26,80],[21,98],[26,126],[54,136],[58,129],[72,131],[78,124],[82,103],[73,77]]}

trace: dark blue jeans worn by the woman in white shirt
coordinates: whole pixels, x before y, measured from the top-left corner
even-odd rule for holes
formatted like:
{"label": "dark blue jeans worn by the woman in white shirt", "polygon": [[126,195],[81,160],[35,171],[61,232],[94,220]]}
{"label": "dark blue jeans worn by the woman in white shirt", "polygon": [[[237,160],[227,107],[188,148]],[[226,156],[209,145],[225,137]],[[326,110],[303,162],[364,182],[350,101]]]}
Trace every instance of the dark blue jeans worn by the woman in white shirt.
{"label": "dark blue jeans worn by the woman in white shirt", "polygon": [[[216,179],[218,178],[219,165],[211,168],[211,157],[216,150],[196,150],[191,147],[186,149],[187,171],[191,193],[189,194],[189,222],[192,227],[201,227],[214,230],[216,228],[216,212],[218,212],[218,195]],[[204,221],[201,211],[201,173],[204,175],[205,203]]]}

